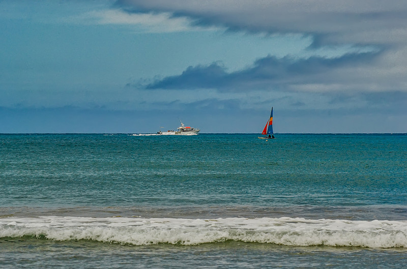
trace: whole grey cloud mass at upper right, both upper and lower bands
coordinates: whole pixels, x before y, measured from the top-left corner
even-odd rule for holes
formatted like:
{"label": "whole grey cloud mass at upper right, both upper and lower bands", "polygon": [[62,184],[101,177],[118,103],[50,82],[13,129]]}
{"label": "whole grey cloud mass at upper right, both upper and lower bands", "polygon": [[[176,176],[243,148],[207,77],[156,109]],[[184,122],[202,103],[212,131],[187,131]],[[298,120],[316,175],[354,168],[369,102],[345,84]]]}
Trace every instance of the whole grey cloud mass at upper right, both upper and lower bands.
{"label": "whole grey cloud mass at upper right, both upper and lower bands", "polygon": [[[310,50],[328,46],[359,46],[359,52],[336,58],[306,59],[273,55],[252,67],[227,73],[222,66],[191,66],[147,86],[153,88],[218,88],[249,90],[293,88],[322,91],[332,85],[355,91],[407,91],[407,3],[403,1],[138,1],[119,0],[129,13],[169,12],[195,24],[226,27],[230,31],[312,36]],[[363,49],[364,48],[364,49]],[[319,85],[311,89],[309,85]]]}

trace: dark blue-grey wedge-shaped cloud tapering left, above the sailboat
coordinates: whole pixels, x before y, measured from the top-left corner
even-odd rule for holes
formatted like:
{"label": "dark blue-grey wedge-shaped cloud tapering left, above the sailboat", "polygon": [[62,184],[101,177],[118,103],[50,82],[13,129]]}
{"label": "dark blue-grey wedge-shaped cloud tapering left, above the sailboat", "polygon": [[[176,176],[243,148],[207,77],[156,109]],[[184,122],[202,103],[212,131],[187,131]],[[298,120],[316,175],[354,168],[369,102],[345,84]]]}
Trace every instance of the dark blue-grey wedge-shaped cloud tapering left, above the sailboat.
{"label": "dark blue-grey wedge-shaped cloud tapering left, above the sailboat", "polygon": [[216,88],[219,91],[245,91],[256,86],[257,89],[284,89],[284,85],[320,82],[333,70],[341,67],[366,65],[373,61],[375,55],[375,53],[352,53],[337,58],[307,59],[267,56],[258,59],[251,68],[230,73],[214,63],[210,66],[189,67],[180,75],[157,80],[148,84],[146,88]]}

